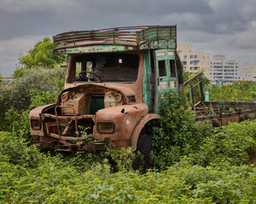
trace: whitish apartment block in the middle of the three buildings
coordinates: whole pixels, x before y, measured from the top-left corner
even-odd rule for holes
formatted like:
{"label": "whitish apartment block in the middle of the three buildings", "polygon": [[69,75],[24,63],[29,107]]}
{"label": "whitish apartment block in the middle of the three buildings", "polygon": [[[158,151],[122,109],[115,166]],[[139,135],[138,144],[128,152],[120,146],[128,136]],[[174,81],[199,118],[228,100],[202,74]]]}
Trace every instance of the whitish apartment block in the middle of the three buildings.
{"label": "whitish apartment block in the middle of the three buildings", "polygon": [[238,78],[238,61],[226,60],[221,54],[214,55],[209,74],[212,82],[233,81]]}

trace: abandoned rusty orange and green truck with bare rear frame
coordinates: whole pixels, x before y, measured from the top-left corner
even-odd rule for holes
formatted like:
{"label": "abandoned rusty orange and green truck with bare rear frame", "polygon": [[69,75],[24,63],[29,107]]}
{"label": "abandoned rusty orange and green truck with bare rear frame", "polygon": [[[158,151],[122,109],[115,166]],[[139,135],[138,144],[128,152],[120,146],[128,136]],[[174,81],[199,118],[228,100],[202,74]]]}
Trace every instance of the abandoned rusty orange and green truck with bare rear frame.
{"label": "abandoned rusty orange and green truck with bare rear frame", "polygon": [[[198,114],[196,122],[224,125],[255,116],[253,102],[205,101],[201,74],[183,82],[177,26],[68,31],[53,37],[53,44],[55,54],[67,54],[67,77],[57,103],[30,112],[38,148],[72,152],[132,147],[147,164],[152,137],[148,122],[160,119],[163,94],[183,94],[184,87]],[[193,98],[195,87],[199,102]],[[204,116],[209,106],[216,114]]]}

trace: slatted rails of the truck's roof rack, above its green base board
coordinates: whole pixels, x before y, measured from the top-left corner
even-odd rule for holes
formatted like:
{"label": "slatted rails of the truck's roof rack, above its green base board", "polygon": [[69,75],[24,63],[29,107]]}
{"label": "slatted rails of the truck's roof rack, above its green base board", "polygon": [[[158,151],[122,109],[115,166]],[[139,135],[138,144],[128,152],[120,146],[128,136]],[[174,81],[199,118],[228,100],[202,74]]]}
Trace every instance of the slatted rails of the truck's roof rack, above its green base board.
{"label": "slatted rails of the truck's roof rack, above its green base board", "polygon": [[[104,40],[115,42],[118,39],[120,42],[130,41],[137,42],[137,45],[141,45],[152,40],[176,40],[176,26],[130,26],[96,31],[69,31],[58,34],[53,38],[54,49],[57,53],[60,45],[75,45],[76,42]],[[62,52],[62,49],[59,51]]]}

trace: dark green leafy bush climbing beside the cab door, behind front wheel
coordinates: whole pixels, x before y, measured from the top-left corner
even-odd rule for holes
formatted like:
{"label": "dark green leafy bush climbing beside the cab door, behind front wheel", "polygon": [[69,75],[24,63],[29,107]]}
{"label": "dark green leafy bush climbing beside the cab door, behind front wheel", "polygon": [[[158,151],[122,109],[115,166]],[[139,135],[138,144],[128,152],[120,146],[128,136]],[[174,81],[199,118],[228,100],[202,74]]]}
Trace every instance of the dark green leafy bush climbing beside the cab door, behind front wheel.
{"label": "dark green leafy bush climbing beside the cab door, behind front wheel", "polygon": [[183,96],[166,94],[165,100],[158,127],[153,127],[154,166],[159,169],[180,161],[188,147],[197,150],[211,130],[207,125],[199,127],[195,123],[195,116],[186,111],[189,105]]}

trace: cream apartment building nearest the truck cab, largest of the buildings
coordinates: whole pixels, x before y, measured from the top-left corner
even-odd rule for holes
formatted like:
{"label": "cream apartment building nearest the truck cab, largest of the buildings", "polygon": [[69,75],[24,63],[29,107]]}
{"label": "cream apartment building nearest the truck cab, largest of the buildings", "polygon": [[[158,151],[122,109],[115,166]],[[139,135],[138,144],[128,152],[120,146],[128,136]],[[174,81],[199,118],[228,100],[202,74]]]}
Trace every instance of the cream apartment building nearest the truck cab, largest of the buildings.
{"label": "cream apartment building nearest the truck cab, largest of the buildings", "polygon": [[210,78],[210,54],[193,49],[191,44],[178,44],[177,54],[183,62],[184,71],[204,71]]}

